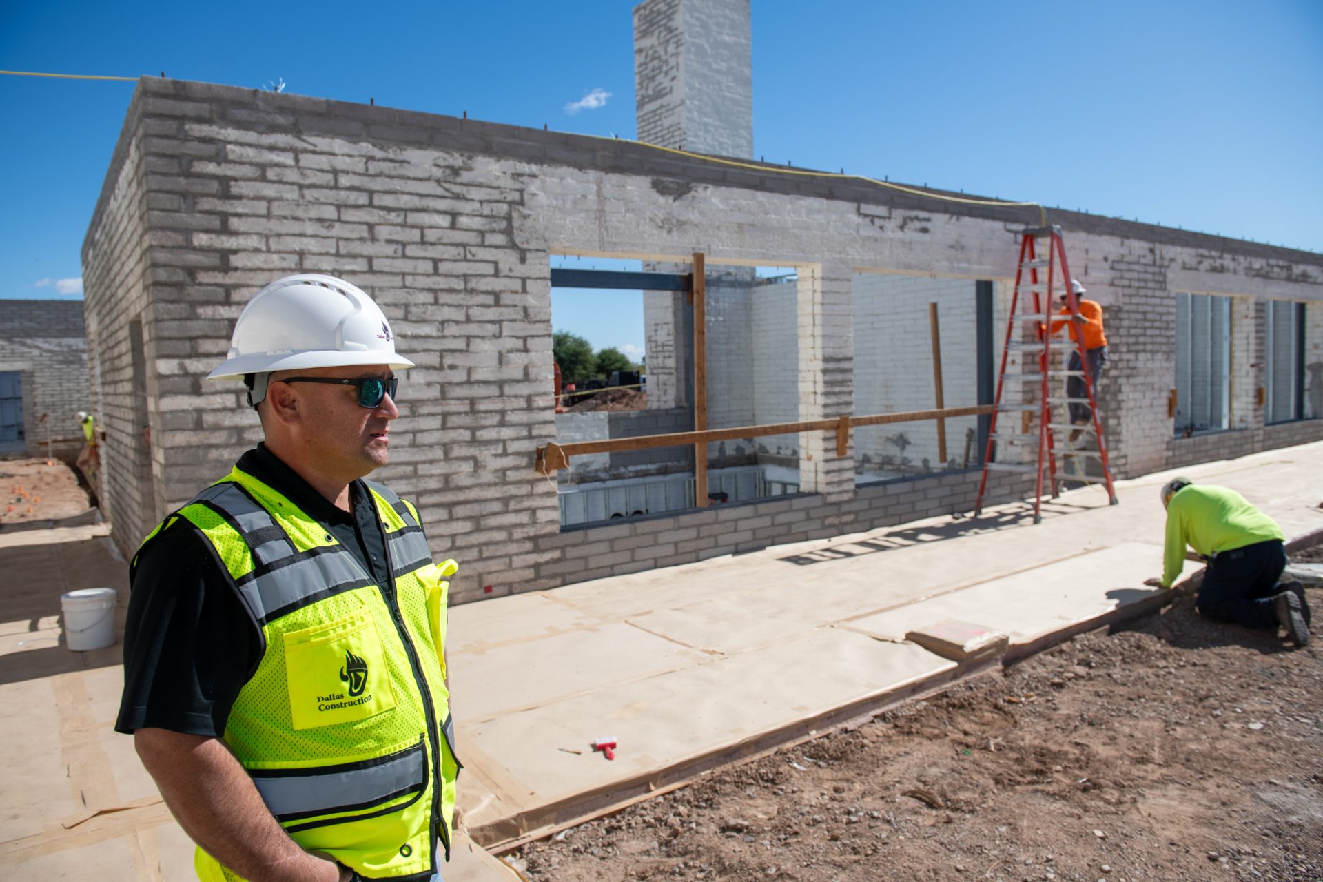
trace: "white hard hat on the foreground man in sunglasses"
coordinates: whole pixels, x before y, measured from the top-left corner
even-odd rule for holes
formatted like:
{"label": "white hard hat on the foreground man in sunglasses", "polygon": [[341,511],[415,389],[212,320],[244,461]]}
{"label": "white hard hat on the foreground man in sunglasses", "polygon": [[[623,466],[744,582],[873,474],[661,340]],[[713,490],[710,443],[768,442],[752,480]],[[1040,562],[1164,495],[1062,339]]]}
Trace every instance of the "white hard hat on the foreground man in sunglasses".
{"label": "white hard hat on the foreground man in sunglasses", "polygon": [[414,366],[396,354],[390,323],[366,294],[329,275],[287,275],[253,295],[225,364],[206,378],[347,365]]}

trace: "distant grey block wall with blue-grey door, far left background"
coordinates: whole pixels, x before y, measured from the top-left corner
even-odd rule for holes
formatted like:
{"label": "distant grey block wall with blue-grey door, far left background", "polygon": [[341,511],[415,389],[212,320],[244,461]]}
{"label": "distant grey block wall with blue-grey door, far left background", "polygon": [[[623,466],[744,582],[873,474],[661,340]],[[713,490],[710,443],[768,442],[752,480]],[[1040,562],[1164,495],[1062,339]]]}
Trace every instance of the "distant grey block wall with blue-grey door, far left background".
{"label": "distant grey block wall with blue-grey door, far left background", "polygon": [[[0,372],[17,372],[26,447],[4,455],[67,459],[82,450],[74,417],[91,411],[82,300],[0,300]],[[45,419],[42,419],[45,415]]]}

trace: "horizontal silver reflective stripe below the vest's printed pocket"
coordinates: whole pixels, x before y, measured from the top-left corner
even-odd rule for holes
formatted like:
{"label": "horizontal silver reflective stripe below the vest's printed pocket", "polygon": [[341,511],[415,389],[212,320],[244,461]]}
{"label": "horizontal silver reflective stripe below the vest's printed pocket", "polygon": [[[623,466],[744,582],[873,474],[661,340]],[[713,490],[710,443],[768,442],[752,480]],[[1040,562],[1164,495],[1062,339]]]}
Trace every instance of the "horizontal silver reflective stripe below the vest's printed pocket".
{"label": "horizontal silver reflective stripe below the vest's printed pocket", "polygon": [[[294,774],[290,774],[294,771]],[[366,763],[319,770],[249,770],[262,801],[278,819],[369,808],[427,785],[422,743]]]}

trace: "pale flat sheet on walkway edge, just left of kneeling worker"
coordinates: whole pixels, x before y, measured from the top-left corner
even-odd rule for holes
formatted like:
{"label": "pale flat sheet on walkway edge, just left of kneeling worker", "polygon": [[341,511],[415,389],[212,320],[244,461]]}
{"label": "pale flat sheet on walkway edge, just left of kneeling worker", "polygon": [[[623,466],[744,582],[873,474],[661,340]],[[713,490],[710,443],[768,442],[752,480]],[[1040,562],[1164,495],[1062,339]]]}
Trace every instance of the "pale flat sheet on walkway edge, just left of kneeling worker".
{"label": "pale flat sheet on walkway edge, just left of kneeling worker", "polygon": [[904,640],[916,627],[959,619],[1008,635],[1012,644],[1032,643],[1160,594],[1143,584],[1144,578],[1160,571],[1162,546],[1125,542],[841,627],[880,640]]}

